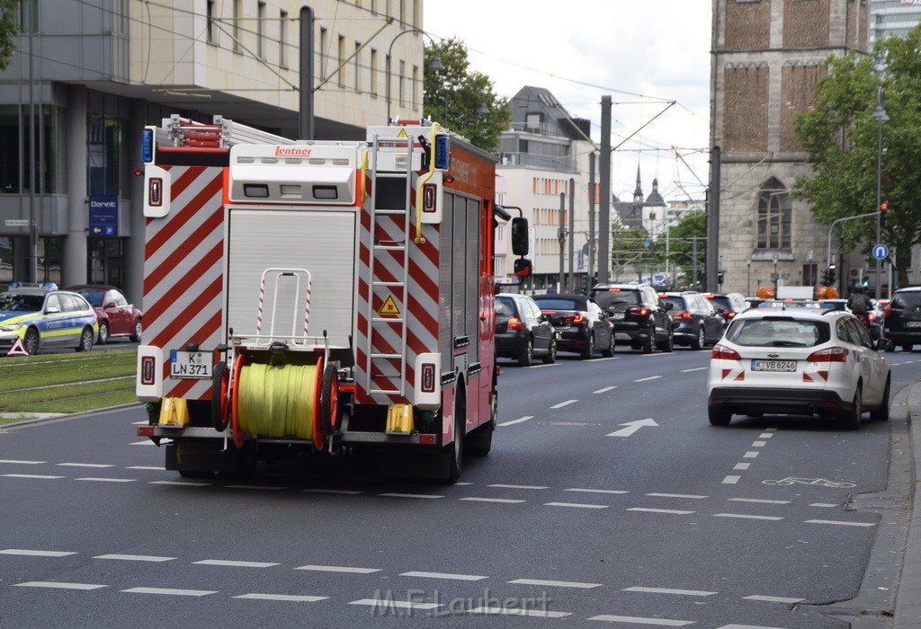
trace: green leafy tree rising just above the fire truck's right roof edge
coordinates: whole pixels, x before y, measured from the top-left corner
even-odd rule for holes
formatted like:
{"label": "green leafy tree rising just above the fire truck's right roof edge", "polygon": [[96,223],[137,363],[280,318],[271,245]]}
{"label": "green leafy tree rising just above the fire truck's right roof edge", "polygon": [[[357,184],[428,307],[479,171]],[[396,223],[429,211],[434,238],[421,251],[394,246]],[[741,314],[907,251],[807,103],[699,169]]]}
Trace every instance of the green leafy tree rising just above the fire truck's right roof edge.
{"label": "green leafy tree rising just above the fire truck's right roof edge", "polygon": [[[495,94],[493,82],[486,74],[470,69],[467,49],[461,41],[442,40],[434,46],[426,45],[426,67],[435,55],[444,69],[425,73],[424,115],[472,144],[495,151],[499,134],[507,130],[512,120],[508,99]],[[483,105],[489,109],[488,114],[480,113]]]}

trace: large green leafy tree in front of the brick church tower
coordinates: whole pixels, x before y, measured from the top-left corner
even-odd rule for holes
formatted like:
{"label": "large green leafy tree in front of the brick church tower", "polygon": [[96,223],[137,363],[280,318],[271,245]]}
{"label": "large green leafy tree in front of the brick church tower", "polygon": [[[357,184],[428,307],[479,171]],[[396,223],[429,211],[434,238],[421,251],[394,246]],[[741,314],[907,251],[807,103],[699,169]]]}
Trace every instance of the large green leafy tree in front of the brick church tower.
{"label": "large green leafy tree in front of the brick church tower", "polygon": [[[816,103],[795,120],[799,143],[812,166],[798,177],[794,195],[812,203],[822,223],[877,212],[877,160],[880,122],[873,119],[878,88],[885,94],[889,121],[881,123],[881,200],[889,212],[882,241],[898,252],[899,285],[908,283],[911,247],[921,243],[921,25],[905,37],[877,43],[872,55],[848,52],[828,59],[828,74],[819,81]],[[885,71],[874,73],[876,59]],[[876,221],[839,223],[844,248],[873,243]],[[869,255],[869,246],[866,246]]]}

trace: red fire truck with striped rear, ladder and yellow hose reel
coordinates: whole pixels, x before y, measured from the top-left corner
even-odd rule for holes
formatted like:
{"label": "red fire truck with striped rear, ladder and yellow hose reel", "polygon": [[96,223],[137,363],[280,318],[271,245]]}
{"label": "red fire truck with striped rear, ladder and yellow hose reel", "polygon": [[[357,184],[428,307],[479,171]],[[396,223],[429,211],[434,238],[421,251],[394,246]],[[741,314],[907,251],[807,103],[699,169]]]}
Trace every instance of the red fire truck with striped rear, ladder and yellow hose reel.
{"label": "red fire truck with striped rear, ladder and yellow hose reel", "polygon": [[427,120],[293,143],[174,116],[144,146],[138,434],[168,469],[373,452],[454,482],[489,452],[491,154]]}

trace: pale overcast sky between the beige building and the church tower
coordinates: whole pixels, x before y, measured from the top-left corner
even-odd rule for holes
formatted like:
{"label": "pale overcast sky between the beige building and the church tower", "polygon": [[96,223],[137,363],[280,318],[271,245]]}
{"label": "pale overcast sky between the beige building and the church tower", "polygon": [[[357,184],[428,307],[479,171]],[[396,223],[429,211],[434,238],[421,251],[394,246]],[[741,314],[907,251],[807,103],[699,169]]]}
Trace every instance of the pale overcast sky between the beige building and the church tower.
{"label": "pale overcast sky between the beige building and the church tower", "polygon": [[592,121],[596,142],[601,97],[610,95],[612,145],[635,133],[612,156],[612,193],[632,198],[639,163],[646,194],[658,177],[665,200],[696,200],[709,168],[711,4],[426,0],[423,28],[463,41],[472,70],[487,74],[500,96],[526,85],[549,89],[573,116]]}

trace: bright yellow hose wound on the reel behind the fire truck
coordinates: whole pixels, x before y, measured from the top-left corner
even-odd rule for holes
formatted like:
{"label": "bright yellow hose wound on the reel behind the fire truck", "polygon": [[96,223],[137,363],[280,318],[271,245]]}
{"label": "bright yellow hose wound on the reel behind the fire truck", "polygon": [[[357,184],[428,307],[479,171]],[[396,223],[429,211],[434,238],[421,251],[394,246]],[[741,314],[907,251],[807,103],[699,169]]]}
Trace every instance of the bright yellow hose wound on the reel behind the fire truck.
{"label": "bright yellow hose wound on the reel behind the fire truck", "polygon": [[319,364],[244,364],[239,372],[239,428],[262,437],[313,440]]}

